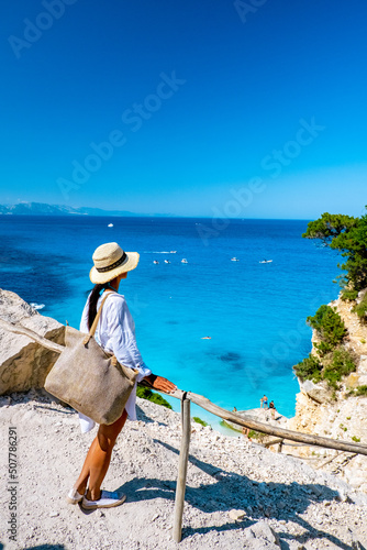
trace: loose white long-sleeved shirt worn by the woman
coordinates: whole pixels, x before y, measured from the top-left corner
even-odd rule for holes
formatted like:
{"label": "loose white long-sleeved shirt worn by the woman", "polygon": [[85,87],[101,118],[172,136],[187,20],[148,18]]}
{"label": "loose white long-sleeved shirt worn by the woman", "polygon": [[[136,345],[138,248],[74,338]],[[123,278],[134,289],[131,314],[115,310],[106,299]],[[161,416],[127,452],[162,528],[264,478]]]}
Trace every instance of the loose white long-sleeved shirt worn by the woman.
{"label": "loose white long-sleeved shirt worn by the woman", "polygon": [[[113,353],[119,363],[131,369],[137,369],[138,375],[136,382],[140,382],[145,376],[152,374],[152,371],[145,365],[141,352],[137,349],[135,340],[135,323],[129,311],[125,297],[121,294],[109,292],[109,296],[103,304],[101,317],[98,321],[96,330],[96,341],[107,352]],[[90,296],[90,295],[89,295]],[[89,332],[88,328],[88,310],[89,296],[81,315],[80,331]],[[97,310],[99,309],[102,297],[98,300]],[[125,405],[127,418],[136,420],[135,411],[136,403],[136,383]],[[80,428],[84,433],[90,431],[96,422],[91,418],[79,413]]]}

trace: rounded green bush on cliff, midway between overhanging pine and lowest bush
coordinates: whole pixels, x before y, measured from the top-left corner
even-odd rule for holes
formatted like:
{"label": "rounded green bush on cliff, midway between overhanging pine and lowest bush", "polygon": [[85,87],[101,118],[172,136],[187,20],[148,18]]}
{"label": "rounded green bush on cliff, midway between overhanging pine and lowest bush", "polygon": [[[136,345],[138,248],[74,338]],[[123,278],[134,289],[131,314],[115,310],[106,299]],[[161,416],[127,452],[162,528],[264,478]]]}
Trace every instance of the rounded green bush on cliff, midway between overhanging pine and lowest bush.
{"label": "rounded green bush on cliff, midway between overhanging pine and lowest bush", "polygon": [[321,306],[313,317],[307,318],[307,322],[321,339],[314,344],[321,358],[334,350],[347,334],[341,316],[330,306]]}

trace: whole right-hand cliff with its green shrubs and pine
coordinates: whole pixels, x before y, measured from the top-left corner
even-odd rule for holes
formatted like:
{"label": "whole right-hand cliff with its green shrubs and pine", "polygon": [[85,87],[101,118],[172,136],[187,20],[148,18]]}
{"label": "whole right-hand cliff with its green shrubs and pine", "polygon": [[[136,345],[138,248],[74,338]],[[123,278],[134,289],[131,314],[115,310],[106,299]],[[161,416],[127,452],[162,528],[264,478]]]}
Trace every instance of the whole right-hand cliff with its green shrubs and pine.
{"label": "whole right-hand cliff with its green shrubs and pine", "polygon": [[[300,393],[288,427],[367,443],[367,216],[326,212],[309,223],[303,237],[337,250],[344,263],[338,264],[338,299],[307,319],[312,350],[293,366]],[[367,491],[365,457],[311,447],[294,453]]]}

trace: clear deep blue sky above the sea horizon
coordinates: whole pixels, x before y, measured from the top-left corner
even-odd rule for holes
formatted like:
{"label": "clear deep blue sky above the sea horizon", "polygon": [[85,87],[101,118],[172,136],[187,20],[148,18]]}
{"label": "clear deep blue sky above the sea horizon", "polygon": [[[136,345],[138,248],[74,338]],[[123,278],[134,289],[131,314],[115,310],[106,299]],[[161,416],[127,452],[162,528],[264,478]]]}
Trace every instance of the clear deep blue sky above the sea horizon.
{"label": "clear deep blue sky above the sea horizon", "polygon": [[359,216],[364,0],[18,0],[0,204]]}

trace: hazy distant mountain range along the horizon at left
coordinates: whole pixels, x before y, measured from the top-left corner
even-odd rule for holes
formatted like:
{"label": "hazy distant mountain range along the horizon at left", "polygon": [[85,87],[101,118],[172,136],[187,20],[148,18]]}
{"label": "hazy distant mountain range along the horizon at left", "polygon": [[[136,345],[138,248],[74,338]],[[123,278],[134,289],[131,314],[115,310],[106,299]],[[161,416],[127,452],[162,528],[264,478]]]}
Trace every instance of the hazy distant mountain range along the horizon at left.
{"label": "hazy distant mountain range along the horizon at left", "polygon": [[0,215],[16,216],[157,216],[168,217],[171,215],[143,215],[129,212],[127,210],[102,210],[101,208],[73,208],[63,205],[45,205],[43,202],[19,202],[18,205],[0,205]]}

